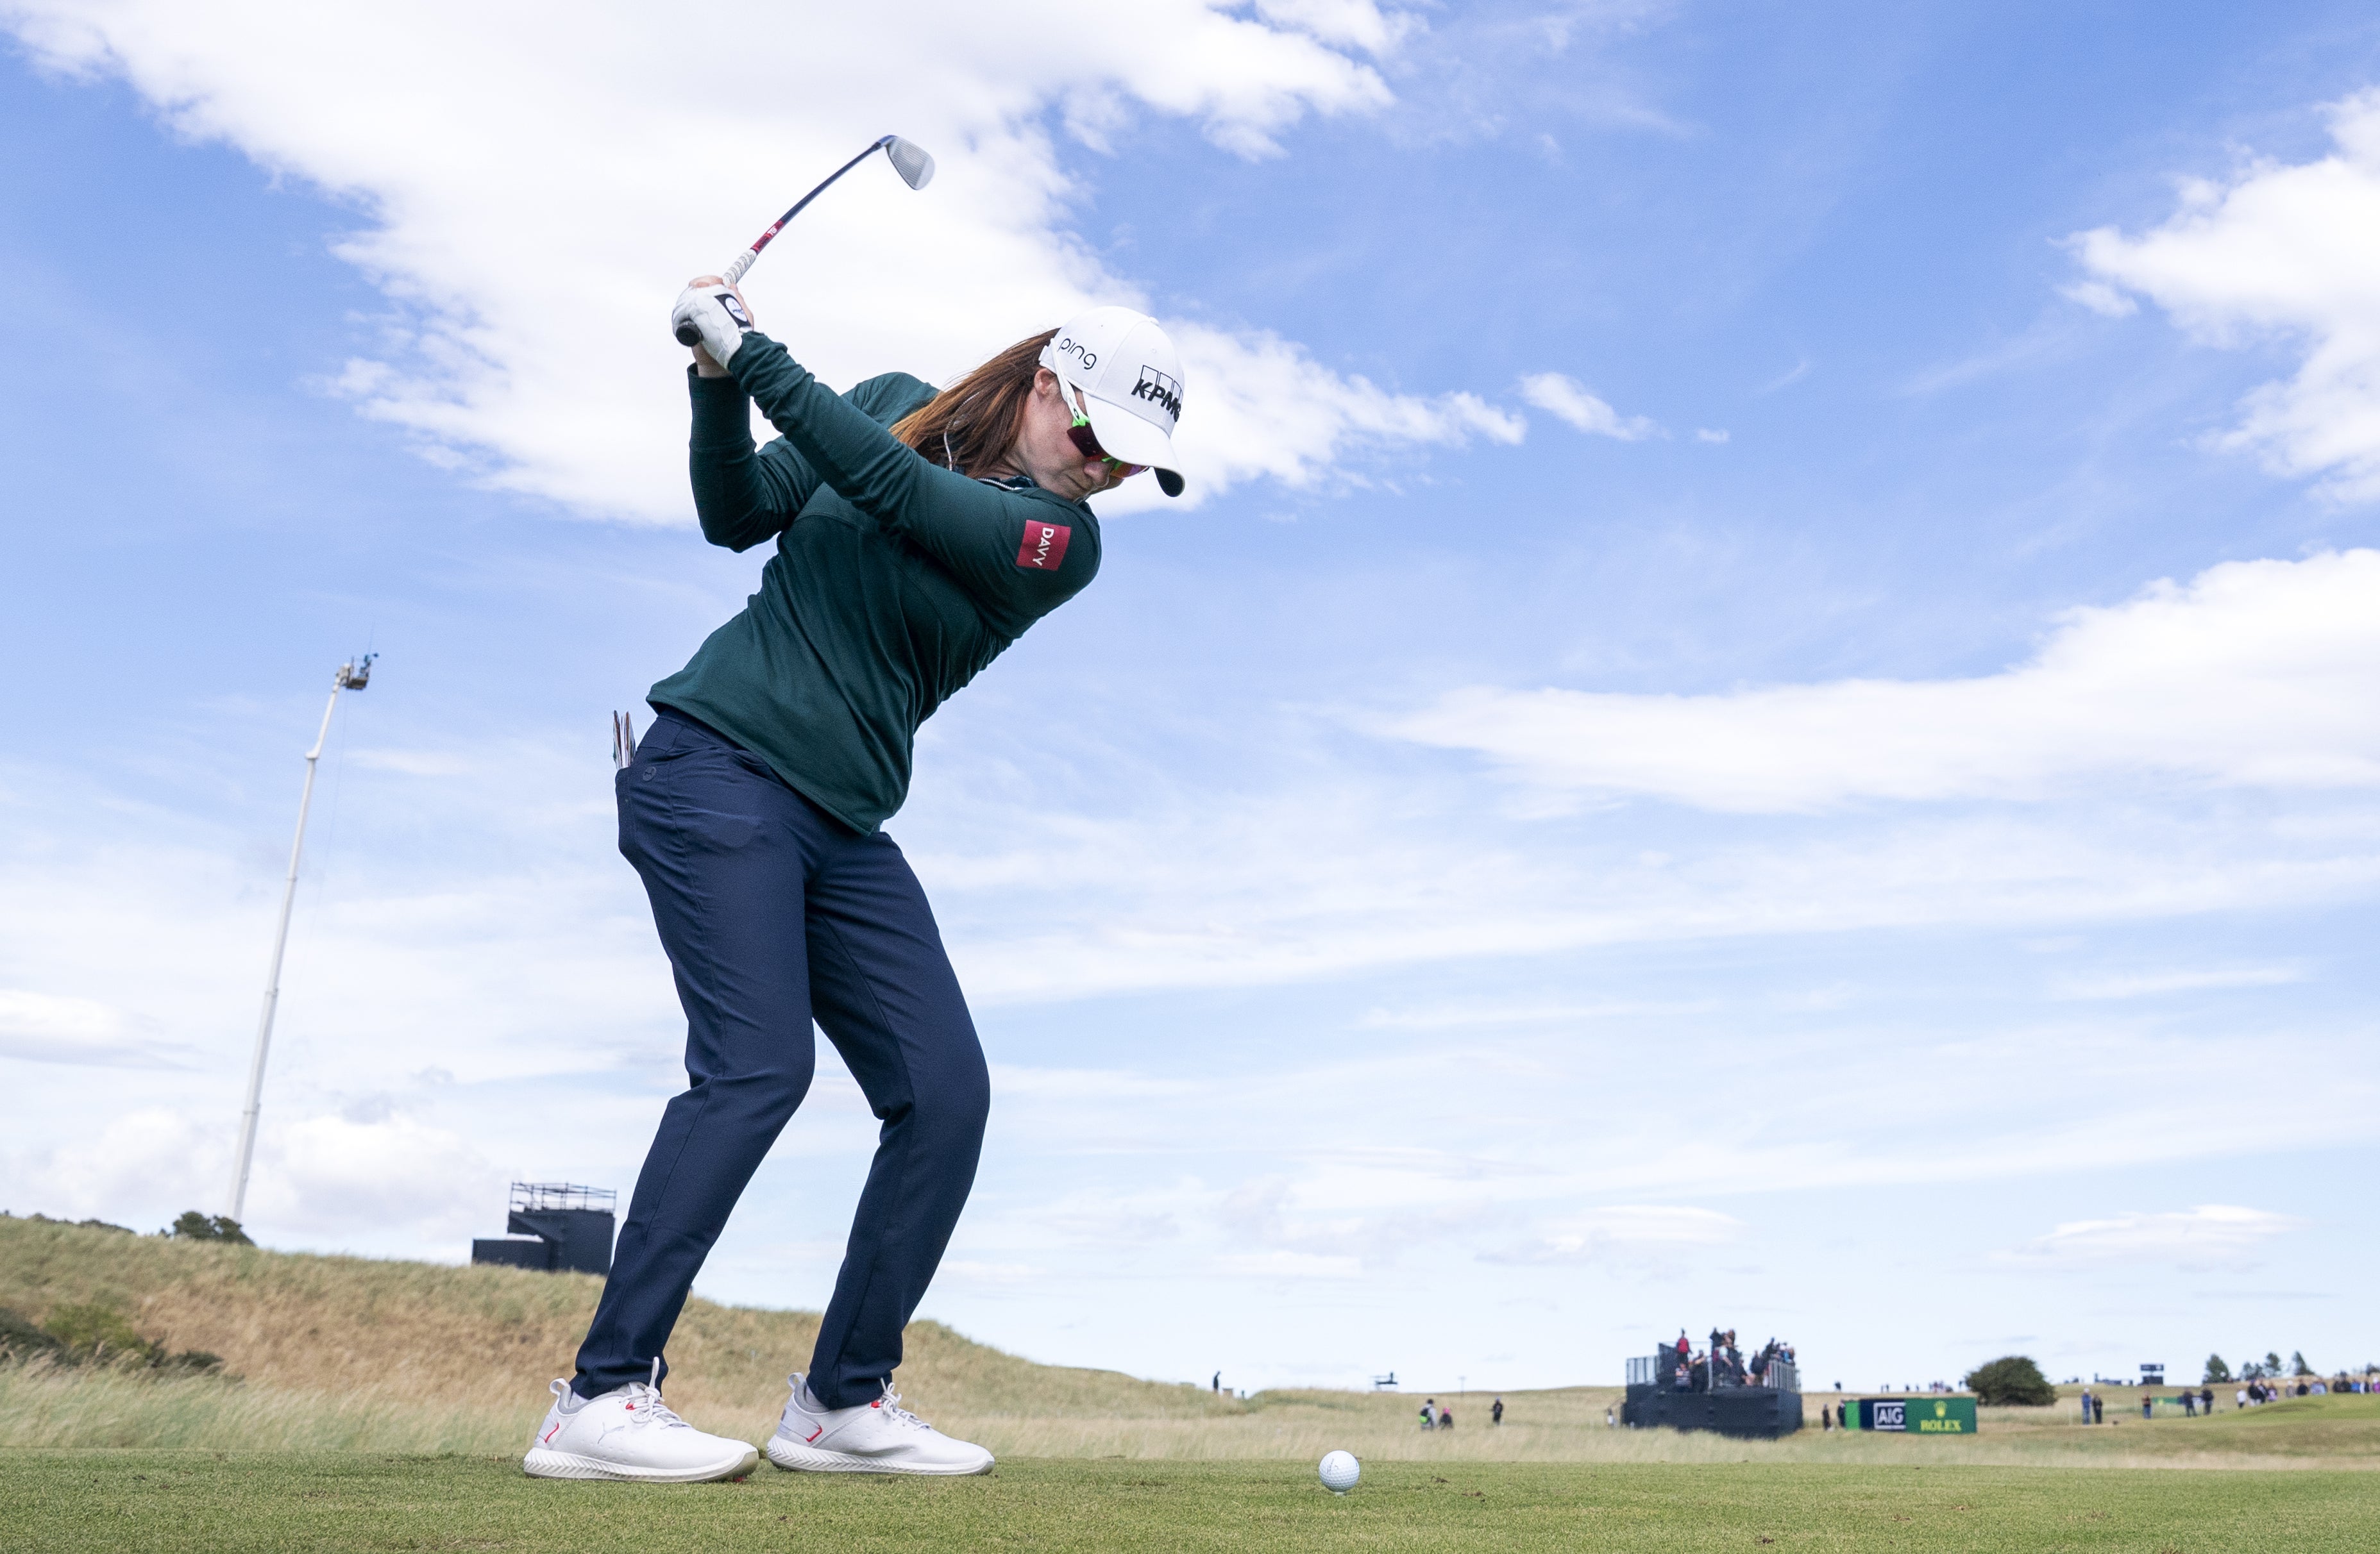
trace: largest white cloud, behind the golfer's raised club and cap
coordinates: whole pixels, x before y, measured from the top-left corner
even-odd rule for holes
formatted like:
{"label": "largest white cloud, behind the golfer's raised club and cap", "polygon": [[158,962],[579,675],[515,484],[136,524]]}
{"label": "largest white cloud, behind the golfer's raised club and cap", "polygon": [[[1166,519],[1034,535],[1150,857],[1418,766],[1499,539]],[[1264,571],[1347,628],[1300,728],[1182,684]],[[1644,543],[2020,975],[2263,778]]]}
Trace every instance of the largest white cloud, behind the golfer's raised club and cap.
{"label": "largest white cloud, behind the golfer's raised club and cap", "polygon": [[[1269,157],[1307,117],[1383,107],[1368,57],[1411,29],[1366,0],[731,2],[704,12],[721,48],[633,5],[19,0],[7,24],[48,67],[121,76],[176,131],[359,209],[338,255],[390,312],[367,355],[324,364],[328,386],[488,485],[640,519],[688,509],[669,295],[866,133],[923,143],[935,183],[854,174],[747,295],[831,383],[942,381],[1085,302],[1145,302],[1071,236],[1090,190],[1052,117],[1092,148],[1135,114],[1183,117]],[[1383,443],[1521,436],[1473,395],[1388,393],[1264,331],[1173,328],[1195,495],[1309,485]]]}

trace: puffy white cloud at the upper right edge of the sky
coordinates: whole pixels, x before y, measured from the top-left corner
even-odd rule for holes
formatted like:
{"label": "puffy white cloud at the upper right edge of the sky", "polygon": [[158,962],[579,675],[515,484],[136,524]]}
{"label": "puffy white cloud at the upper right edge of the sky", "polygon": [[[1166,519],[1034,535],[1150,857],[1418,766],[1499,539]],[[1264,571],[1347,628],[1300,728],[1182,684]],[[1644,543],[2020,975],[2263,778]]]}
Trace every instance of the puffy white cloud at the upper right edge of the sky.
{"label": "puffy white cloud at the upper right edge of the sky", "polygon": [[2330,107],[2330,155],[2254,162],[2228,183],[2190,181],[2180,209],[2142,236],[2073,238],[2092,274],[2066,295],[2123,312],[2125,293],[2213,345],[2297,340],[2287,381],[2266,383],[2223,438],[2337,497],[2380,497],[2380,90]]}

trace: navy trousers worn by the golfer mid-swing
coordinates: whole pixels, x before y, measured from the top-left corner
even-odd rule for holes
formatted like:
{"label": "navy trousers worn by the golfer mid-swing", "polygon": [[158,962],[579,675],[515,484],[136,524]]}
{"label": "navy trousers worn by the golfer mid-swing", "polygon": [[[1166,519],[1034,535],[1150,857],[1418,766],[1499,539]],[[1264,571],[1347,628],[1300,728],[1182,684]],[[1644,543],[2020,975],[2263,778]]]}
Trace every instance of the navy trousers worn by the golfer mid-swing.
{"label": "navy trousers worn by the golfer mid-swing", "polygon": [[571,1385],[595,1397],[652,1376],[702,1259],[809,1090],[816,1019],[883,1130],[809,1390],[828,1409],[873,1402],[976,1183],[990,1107],[933,909],[892,838],[852,831],[666,709],[616,792],[619,850],[645,878],[685,1007],[688,1088],[635,1178]]}

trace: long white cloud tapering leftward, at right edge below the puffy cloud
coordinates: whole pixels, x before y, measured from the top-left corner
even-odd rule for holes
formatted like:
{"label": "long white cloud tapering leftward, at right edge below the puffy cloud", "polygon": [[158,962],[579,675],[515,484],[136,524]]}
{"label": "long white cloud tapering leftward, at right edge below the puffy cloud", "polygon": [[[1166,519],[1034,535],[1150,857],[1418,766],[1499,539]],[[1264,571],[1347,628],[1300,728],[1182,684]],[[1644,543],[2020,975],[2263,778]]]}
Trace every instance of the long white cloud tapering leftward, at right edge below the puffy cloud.
{"label": "long white cloud tapering leftward, at right edge below the puffy cloud", "polygon": [[1390,733],[1476,750],[1549,790],[1704,809],[2042,800],[2092,778],[2237,788],[2380,783],[2380,552],[2230,562],[2075,609],[2042,650],[1966,681],[1716,695],[1473,688]]}

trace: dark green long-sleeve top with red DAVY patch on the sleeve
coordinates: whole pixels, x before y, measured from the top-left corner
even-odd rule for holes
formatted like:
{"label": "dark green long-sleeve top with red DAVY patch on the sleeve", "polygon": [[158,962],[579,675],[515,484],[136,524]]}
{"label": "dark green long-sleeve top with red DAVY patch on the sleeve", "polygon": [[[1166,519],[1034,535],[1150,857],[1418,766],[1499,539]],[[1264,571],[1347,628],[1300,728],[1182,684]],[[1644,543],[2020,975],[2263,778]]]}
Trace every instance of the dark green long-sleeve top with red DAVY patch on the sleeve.
{"label": "dark green long-sleeve top with red DAVY patch on the sleeve", "polygon": [[[776,538],[759,593],[652,688],[857,831],[909,795],[916,726],[1100,571],[1090,507],[928,462],[888,426],[909,374],[835,395],[762,333],[688,371],[695,514],[712,545]],[[752,447],[759,405],[783,438]]]}

